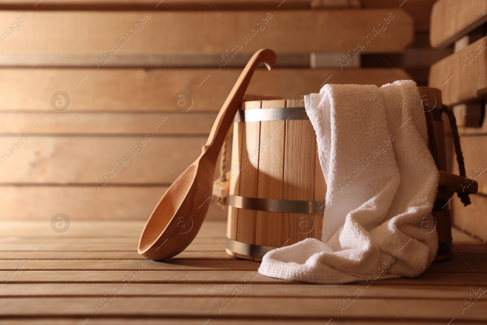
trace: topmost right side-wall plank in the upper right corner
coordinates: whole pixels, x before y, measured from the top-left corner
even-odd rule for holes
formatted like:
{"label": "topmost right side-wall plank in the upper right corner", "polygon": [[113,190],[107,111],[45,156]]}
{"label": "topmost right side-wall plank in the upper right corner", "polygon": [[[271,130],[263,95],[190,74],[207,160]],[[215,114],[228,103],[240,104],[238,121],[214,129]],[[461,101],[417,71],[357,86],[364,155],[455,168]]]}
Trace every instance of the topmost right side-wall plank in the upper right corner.
{"label": "topmost right side-wall plank in the upper right corner", "polygon": [[486,21],[485,0],[438,0],[431,10],[431,46],[450,45]]}

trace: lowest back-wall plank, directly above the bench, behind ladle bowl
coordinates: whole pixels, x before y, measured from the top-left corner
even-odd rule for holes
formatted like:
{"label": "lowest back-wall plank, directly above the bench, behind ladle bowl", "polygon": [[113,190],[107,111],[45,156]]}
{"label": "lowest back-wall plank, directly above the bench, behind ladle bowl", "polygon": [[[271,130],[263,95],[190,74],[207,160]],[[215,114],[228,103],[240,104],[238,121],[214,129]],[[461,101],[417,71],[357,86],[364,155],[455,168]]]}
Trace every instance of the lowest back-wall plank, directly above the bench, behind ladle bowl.
{"label": "lowest back-wall plank, directly above the bench, behind ladle bowl", "polygon": [[[3,167],[3,166],[2,166]],[[0,167],[1,168],[1,167]],[[139,176],[140,178],[140,176]],[[15,180],[15,179],[14,179]],[[138,181],[135,178],[135,181]],[[140,184],[140,182],[139,182]],[[146,221],[167,186],[105,186],[96,191],[93,184],[87,186],[0,186],[0,220],[43,220],[45,234],[52,235],[51,218],[65,213],[72,221],[72,229],[63,235],[76,234],[83,220],[140,220]],[[86,199],[86,201],[85,201]],[[211,199],[207,219],[226,220],[227,211]],[[81,224],[82,226],[83,224]],[[20,228],[19,228],[20,227]],[[112,228],[110,224],[105,227]],[[139,236],[143,225],[132,235]],[[9,228],[9,233],[25,231],[25,225]],[[82,229],[80,229],[81,231]],[[114,229],[115,233],[127,234],[127,227]]]}

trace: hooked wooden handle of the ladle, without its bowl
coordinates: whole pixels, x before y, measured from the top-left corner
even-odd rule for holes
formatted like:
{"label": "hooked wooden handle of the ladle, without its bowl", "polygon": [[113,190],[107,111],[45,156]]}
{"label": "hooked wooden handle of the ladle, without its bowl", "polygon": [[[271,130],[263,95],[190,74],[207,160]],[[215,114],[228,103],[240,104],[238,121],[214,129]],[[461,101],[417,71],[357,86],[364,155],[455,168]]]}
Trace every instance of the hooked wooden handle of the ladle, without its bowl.
{"label": "hooked wooden handle of the ladle, without its bowl", "polygon": [[250,58],[237,79],[237,82],[233,86],[232,91],[228,94],[228,97],[226,97],[225,103],[220,109],[220,113],[218,113],[215,123],[213,123],[208,141],[206,141],[206,144],[203,146],[201,153],[202,157],[206,156],[206,158],[211,159],[211,162],[214,161],[216,165],[218,154],[222,149],[225,136],[228,133],[228,130],[230,130],[233,118],[240,107],[240,103],[244,98],[245,91],[247,90],[257,65],[264,62],[267,69],[270,71],[276,64],[276,59],[276,53],[269,49],[260,49]]}

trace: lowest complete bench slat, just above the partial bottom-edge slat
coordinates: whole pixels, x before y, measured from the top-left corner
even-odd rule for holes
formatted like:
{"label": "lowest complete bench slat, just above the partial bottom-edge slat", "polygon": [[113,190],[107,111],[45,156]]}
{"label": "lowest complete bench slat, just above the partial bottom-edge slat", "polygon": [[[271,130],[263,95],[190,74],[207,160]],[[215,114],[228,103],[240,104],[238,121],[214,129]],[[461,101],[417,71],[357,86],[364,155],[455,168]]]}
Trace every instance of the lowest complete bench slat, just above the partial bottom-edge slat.
{"label": "lowest complete bench slat, just above the partial bottom-edge slat", "polygon": [[[145,273],[145,272],[144,272]],[[143,274],[142,274],[143,275]],[[391,299],[387,304],[378,298],[356,299],[351,308],[340,313],[337,308],[337,298],[301,298],[292,297],[240,297],[229,305],[223,305],[220,297],[118,297],[107,302],[99,310],[104,316],[191,316],[191,317],[277,317],[288,318],[381,318],[404,319],[406,321],[417,318],[431,320],[446,320],[459,317],[458,299]],[[17,301],[16,301],[17,300]],[[56,315],[84,315],[96,316],[94,304],[98,301],[94,297],[48,297],[48,298],[1,298],[2,316],[50,316]],[[441,303],[440,303],[441,302]],[[225,310],[219,310],[216,305],[221,303]],[[408,308],[404,308],[407,305]],[[441,307],[439,307],[440,305]],[[477,305],[477,307],[475,307]],[[462,315],[462,320],[485,320],[487,303],[477,300],[473,308]],[[63,308],[58,308],[63,306]],[[191,306],[191,308],[188,308]],[[25,309],[24,309],[25,308]],[[222,308],[223,309],[223,308]],[[27,310],[29,312],[27,312]],[[274,314],[274,315],[273,315]]]}

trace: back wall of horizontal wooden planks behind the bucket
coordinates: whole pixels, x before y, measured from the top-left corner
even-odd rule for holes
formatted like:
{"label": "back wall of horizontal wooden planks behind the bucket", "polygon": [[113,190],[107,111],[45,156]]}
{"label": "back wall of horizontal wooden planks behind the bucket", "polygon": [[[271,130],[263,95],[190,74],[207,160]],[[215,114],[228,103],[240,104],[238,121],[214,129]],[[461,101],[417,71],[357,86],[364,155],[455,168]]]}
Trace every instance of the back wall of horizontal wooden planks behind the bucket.
{"label": "back wall of horizontal wooden planks behind the bucket", "polygon": [[249,94],[424,85],[432,3],[0,0],[0,219],[146,220],[262,47]]}

